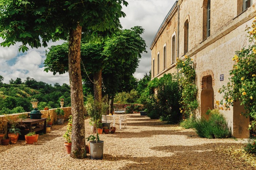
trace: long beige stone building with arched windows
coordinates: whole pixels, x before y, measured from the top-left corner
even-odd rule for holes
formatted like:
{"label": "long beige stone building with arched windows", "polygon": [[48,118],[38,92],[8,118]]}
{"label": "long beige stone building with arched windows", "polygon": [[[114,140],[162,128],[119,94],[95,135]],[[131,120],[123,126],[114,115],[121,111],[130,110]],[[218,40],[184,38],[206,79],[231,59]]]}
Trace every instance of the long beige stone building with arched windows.
{"label": "long beige stone building with arched windows", "polygon": [[[235,51],[249,42],[245,27],[256,16],[256,0],[178,0],[161,24],[151,49],[151,78],[176,73],[176,58],[193,58],[200,107],[197,116],[223,98],[217,91],[229,82]],[[223,80],[220,79],[223,77]],[[233,136],[248,138],[249,118],[234,103],[223,111]]]}

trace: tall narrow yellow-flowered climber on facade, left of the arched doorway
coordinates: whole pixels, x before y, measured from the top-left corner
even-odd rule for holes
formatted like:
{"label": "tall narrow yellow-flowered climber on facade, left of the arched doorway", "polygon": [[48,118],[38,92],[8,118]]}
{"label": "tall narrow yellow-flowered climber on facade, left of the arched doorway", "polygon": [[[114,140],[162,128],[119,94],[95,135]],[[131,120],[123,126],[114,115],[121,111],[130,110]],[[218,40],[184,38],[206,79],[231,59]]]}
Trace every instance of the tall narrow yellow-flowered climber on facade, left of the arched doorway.
{"label": "tall narrow yellow-flowered climber on facade, left of the arched doorway", "polygon": [[195,84],[196,71],[194,68],[193,59],[185,55],[186,60],[182,61],[177,58],[177,68],[179,69],[179,83],[181,86],[180,112],[187,118],[188,116],[195,117],[195,110],[199,103],[196,99],[197,87]]}

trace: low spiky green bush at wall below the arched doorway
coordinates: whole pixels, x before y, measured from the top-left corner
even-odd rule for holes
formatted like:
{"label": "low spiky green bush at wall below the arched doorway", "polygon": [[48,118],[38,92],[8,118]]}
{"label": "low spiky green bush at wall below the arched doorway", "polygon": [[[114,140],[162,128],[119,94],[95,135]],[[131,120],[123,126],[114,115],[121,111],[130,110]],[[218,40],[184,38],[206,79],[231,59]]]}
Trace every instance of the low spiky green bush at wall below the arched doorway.
{"label": "low spiky green bush at wall below the arched doorway", "polygon": [[209,119],[201,118],[193,123],[196,133],[205,138],[228,138],[231,137],[231,129],[227,121],[218,110],[212,110]]}

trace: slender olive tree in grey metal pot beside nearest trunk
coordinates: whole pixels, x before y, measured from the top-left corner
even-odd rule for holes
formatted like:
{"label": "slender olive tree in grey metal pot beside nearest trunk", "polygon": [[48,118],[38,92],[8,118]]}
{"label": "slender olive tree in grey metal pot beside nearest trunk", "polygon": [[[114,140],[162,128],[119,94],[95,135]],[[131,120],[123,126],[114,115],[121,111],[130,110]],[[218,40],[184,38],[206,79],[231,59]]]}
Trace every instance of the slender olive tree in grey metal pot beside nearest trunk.
{"label": "slender olive tree in grey metal pot beside nearest trunk", "polygon": [[[86,109],[90,116],[91,122],[94,122],[97,129],[98,122],[102,118],[102,112],[105,112],[106,103],[102,100],[94,100],[93,98],[87,98]],[[93,135],[94,136],[94,135]],[[91,137],[91,136],[90,136]],[[96,131],[96,140],[90,141],[90,154],[91,159],[103,159],[103,141],[99,140],[98,131]]]}

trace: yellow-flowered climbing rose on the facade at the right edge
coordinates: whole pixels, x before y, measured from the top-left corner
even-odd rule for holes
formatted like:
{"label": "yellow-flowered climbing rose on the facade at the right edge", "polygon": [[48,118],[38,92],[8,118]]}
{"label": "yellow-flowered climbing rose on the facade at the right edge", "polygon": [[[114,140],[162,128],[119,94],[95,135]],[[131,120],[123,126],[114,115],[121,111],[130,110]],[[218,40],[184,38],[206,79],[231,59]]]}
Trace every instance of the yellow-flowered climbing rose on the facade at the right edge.
{"label": "yellow-flowered climbing rose on the facade at the right edge", "polygon": [[[244,105],[244,116],[251,116],[256,120],[256,18],[252,23],[252,27],[246,26],[248,39],[252,45],[244,47],[231,59],[234,66],[230,70],[229,83],[223,86],[219,92],[224,94],[224,101],[220,104],[229,108],[233,106],[233,102],[241,101]],[[256,130],[256,122],[252,121],[249,124],[249,129]]]}

